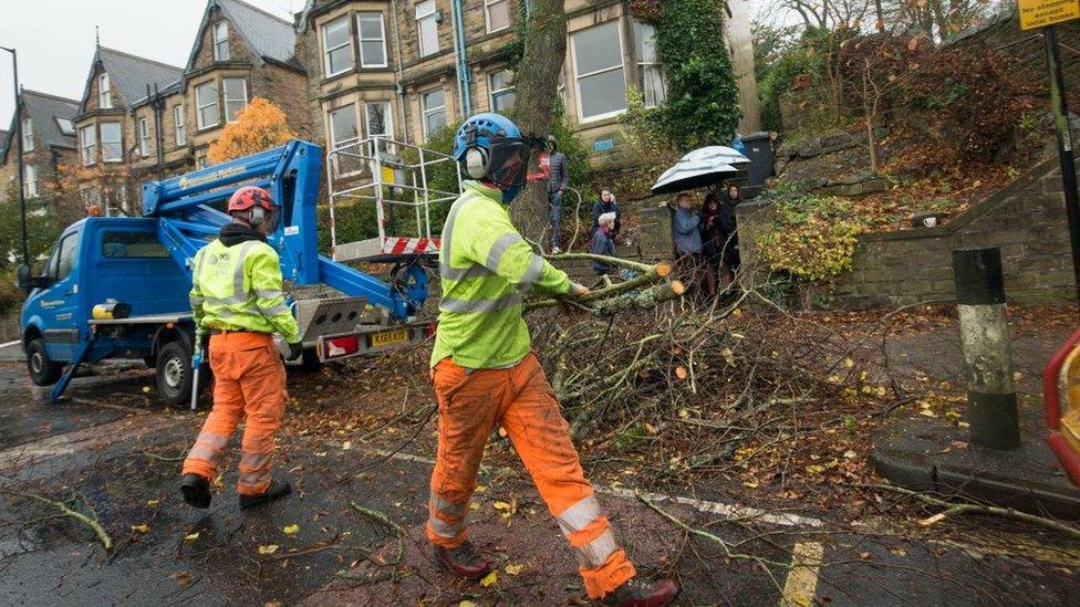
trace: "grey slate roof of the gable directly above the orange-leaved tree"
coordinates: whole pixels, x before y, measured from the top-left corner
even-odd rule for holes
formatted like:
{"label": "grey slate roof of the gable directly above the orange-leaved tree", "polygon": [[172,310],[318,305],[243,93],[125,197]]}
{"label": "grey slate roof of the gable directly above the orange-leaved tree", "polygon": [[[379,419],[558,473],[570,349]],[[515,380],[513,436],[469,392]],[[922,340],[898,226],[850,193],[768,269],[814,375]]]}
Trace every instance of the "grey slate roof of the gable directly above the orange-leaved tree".
{"label": "grey slate roof of the gable directly above the orange-leaved tree", "polygon": [[240,34],[248,49],[260,62],[271,61],[303,70],[302,64],[295,59],[297,34],[292,23],[239,0],[207,2],[202,23],[199,24],[199,35],[196,36],[191,55],[188,57],[188,69],[195,65],[195,55],[198,53],[202,32],[210,23],[210,11],[215,7],[221,10],[221,14],[231,23],[233,30]]}

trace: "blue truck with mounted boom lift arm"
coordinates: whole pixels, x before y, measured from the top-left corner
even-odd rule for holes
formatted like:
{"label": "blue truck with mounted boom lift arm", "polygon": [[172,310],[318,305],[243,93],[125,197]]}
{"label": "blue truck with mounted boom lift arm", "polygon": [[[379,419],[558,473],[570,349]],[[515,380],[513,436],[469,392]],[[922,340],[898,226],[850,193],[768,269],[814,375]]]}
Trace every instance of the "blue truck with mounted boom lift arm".
{"label": "blue truck with mounted boom lift arm", "polygon": [[[68,227],[39,273],[23,265],[22,344],[30,378],[59,399],[84,363],[144,360],[160,398],[191,402],[205,385],[188,292],[195,253],[230,221],[220,209],[237,188],[270,190],[282,217],[268,240],[291,290],[331,287],[340,296],[289,297],[304,341],[304,364],[378,352],[426,338],[417,321],[428,296],[430,252],[403,254],[383,281],[318,251],[322,149],[279,148],[143,186],[142,217],[91,217]],[[98,314],[95,317],[95,308]],[[112,313],[102,313],[111,310]],[[193,395],[195,398],[193,398]]]}

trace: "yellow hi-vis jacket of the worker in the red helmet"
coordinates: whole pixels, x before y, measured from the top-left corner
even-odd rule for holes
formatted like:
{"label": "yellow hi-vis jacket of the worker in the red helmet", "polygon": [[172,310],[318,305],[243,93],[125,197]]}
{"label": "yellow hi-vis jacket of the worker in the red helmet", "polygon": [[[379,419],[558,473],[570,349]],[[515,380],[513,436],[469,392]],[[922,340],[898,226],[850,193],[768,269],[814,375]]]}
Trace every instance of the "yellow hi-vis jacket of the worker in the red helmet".
{"label": "yellow hi-vis jacket of the worker in the red helmet", "polygon": [[300,342],[300,328],[285,305],[278,252],[261,240],[226,247],[220,240],[195,255],[191,312],[200,329],[280,333]]}

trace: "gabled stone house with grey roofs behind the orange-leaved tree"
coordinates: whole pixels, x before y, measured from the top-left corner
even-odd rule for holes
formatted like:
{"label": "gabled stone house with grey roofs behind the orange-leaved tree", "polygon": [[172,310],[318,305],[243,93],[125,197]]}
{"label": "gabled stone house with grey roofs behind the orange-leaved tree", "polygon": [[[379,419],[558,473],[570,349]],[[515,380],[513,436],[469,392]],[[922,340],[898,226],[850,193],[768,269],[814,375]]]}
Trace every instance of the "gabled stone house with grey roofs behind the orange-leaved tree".
{"label": "gabled stone house with grey roofs behind the orange-leaved tree", "polygon": [[278,105],[310,135],[307,74],[288,21],[239,0],[209,0],[185,67],[98,46],[76,117],[84,202],[138,213],[141,184],[206,165],[250,100]]}

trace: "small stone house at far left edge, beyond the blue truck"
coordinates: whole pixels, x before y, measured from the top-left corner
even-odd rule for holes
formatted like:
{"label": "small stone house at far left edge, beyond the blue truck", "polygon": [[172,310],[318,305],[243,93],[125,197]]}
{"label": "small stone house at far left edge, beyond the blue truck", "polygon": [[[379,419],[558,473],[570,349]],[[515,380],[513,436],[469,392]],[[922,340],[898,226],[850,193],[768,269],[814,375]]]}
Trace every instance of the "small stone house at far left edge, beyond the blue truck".
{"label": "small stone house at far left edge, beyond the blue truck", "polygon": [[73,121],[79,102],[23,90],[20,106],[21,112],[18,117],[12,116],[9,129],[0,132],[0,198],[19,179],[17,119],[22,121],[23,190],[28,199],[48,198],[58,172],[77,158]]}

